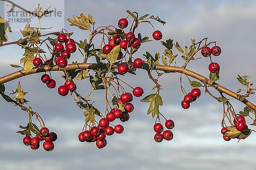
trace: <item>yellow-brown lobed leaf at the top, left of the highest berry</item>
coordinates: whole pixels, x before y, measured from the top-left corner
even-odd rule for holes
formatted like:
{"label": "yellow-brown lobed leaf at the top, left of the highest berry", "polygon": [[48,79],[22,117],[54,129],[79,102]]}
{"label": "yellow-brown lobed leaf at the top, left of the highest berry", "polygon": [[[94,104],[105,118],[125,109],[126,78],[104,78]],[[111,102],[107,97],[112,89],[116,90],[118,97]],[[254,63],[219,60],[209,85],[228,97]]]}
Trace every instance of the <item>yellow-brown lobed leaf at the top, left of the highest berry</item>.
{"label": "yellow-brown lobed leaf at the top, left of the highest berry", "polygon": [[90,30],[89,19],[88,17],[86,17],[86,15],[82,13],[80,14],[80,17],[75,15],[73,17],[74,17],[74,20],[67,18],[68,22],[71,23],[70,26],[77,26],[80,29]]}

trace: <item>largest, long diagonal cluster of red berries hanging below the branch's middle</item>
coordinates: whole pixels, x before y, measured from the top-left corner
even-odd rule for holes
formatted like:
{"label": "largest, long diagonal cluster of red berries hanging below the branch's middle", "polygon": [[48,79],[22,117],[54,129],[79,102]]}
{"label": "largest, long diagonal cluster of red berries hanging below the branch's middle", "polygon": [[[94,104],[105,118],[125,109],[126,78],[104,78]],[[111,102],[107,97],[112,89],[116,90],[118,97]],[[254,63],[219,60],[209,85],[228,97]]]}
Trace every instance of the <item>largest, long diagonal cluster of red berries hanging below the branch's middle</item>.
{"label": "largest, long diagonal cluster of red berries hanging below the branch's middle", "polygon": [[[134,96],[142,96],[143,89],[136,87],[133,90]],[[122,125],[116,125],[114,128],[110,126],[110,122],[113,122],[115,119],[120,119],[121,122],[126,122],[129,120],[131,113],[134,110],[134,105],[130,102],[132,101],[133,96],[130,93],[124,93],[117,99],[116,102],[124,106],[124,111],[120,109],[113,108],[109,113],[106,114],[105,118],[99,120],[98,126],[93,126],[90,130],[85,130],[78,135],[80,142],[96,142],[96,147],[99,149],[107,145],[106,136],[111,136],[113,133],[122,133],[124,127]]]}

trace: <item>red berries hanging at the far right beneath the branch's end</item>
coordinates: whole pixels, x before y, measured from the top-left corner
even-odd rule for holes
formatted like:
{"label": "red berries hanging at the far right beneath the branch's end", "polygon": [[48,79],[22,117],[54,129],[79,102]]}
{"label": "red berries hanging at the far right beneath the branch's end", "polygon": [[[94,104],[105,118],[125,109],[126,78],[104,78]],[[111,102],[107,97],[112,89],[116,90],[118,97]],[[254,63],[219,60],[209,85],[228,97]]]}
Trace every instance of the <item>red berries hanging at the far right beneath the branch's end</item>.
{"label": "red berries hanging at the far right beneath the branch's end", "polygon": [[[234,123],[236,129],[239,130],[240,132],[248,128],[248,126],[246,125],[244,116],[240,115],[237,118],[233,119],[233,123]],[[223,127],[221,129],[221,133],[223,134],[223,139],[225,141],[230,141],[231,138],[229,136],[225,136],[225,133],[227,131],[229,131],[229,130],[226,127]]]}

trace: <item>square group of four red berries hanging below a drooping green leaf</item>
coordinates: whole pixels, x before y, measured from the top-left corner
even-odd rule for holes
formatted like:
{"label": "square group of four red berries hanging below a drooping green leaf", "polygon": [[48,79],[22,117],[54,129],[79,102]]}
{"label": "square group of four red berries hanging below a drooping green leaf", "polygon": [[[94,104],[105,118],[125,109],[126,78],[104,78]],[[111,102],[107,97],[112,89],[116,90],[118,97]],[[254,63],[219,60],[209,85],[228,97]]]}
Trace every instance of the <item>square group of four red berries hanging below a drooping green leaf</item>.
{"label": "square group of four red berries hanging below a drooping green leaf", "polygon": [[[171,119],[166,120],[165,127],[167,129],[172,129],[174,127],[173,120],[171,120]],[[154,135],[154,140],[156,142],[162,142],[163,139],[169,141],[169,140],[172,140],[172,138],[173,138],[172,131],[171,130],[163,131],[163,125],[161,123],[154,124],[154,131],[156,132],[156,134]],[[163,132],[163,134],[162,134],[162,132]]]}

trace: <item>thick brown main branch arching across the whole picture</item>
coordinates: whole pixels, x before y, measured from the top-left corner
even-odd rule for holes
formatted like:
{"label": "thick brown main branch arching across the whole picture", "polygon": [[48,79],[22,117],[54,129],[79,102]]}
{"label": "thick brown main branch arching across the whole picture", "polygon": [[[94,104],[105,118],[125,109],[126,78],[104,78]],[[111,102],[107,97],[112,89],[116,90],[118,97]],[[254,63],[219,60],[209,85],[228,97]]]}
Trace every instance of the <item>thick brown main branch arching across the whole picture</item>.
{"label": "thick brown main branch arching across the whole picture", "polygon": [[[107,66],[105,64],[103,65],[99,65],[99,64],[95,64],[95,63],[77,63],[77,64],[69,64],[65,67],[66,71],[68,70],[76,70],[76,69],[92,69],[92,70],[96,70],[98,68],[102,68],[102,69],[107,69]],[[117,68],[117,65],[114,65],[113,68]],[[44,67],[40,67],[40,68],[33,68],[31,71],[24,71],[23,69],[20,71],[16,71],[14,73],[8,74],[6,76],[0,77],[0,84],[4,84],[6,82],[12,81],[14,79],[26,76],[26,75],[30,75],[30,74],[36,74],[36,73],[44,73],[45,71],[64,71],[63,68],[59,68],[58,65],[54,65],[52,68],[49,67],[49,65],[46,65]],[[186,74],[189,77],[193,77],[197,80],[199,80],[202,83],[207,83],[207,85],[209,85],[211,82],[208,78],[195,73],[194,71],[190,71],[186,68],[182,68],[182,67],[175,67],[175,66],[166,66],[166,65],[156,65],[154,67],[154,70],[158,70],[158,71],[167,71],[170,73],[182,73],[182,74]],[[216,83],[214,85],[214,88],[224,94],[227,94],[228,96],[233,97],[234,99],[239,100],[239,97],[237,96],[237,94],[221,85],[219,85],[218,83]],[[241,101],[241,100],[239,100]],[[247,99],[242,100],[241,102],[243,102],[245,105],[247,105],[248,107],[252,108],[254,111],[256,111],[256,105],[254,105],[252,102],[248,101]]]}

